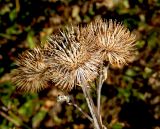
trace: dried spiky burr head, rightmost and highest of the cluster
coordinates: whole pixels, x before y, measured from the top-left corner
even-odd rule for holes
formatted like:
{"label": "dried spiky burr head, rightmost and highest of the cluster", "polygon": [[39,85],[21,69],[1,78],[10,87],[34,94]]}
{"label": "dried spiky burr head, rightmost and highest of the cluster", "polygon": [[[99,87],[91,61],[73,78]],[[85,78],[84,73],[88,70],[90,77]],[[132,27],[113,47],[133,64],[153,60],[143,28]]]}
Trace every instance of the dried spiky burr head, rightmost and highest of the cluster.
{"label": "dried spiky burr head, rightmost and highest of the cluster", "polygon": [[136,36],[117,21],[96,20],[90,24],[97,36],[95,47],[101,49],[104,60],[121,67],[132,61]]}

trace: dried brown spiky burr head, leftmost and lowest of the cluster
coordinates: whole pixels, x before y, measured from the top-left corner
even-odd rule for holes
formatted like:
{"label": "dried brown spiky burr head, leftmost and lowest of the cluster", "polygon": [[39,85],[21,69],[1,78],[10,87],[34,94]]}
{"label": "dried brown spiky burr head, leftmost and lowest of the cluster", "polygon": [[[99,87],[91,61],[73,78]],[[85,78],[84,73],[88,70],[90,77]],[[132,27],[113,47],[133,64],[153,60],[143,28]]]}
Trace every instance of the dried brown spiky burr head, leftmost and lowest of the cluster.
{"label": "dried brown spiky burr head, leftmost and lowest of the cluster", "polygon": [[18,90],[39,91],[49,86],[49,67],[39,47],[22,53],[17,66],[12,73],[12,81]]}

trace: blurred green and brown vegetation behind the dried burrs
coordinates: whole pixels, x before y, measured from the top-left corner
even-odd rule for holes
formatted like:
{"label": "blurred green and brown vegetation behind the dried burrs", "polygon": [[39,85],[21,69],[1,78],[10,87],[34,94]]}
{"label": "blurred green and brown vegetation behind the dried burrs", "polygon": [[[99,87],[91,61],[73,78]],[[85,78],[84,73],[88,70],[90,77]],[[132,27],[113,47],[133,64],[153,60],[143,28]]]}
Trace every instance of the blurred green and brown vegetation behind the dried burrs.
{"label": "blurred green and brown vegetation behind the dried burrs", "polygon": [[[91,128],[74,107],[56,102],[61,91],[19,93],[9,73],[22,51],[60,27],[97,17],[117,19],[138,37],[135,61],[109,69],[102,89],[105,124],[160,129],[160,0],[0,0],[0,129]],[[69,94],[87,110],[79,88]]]}

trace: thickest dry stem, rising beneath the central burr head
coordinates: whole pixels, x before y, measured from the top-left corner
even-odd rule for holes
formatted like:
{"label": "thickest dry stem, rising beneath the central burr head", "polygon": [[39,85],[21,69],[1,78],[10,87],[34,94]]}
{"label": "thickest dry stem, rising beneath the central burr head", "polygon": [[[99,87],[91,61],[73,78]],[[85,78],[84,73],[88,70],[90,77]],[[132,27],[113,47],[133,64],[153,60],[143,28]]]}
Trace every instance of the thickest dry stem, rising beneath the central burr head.
{"label": "thickest dry stem, rising beneath the central burr head", "polygon": [[84,96],[86,98],[87,105],[88,105],[88,108],[90,110],[91,116],[93,118],[93,122],[92,123],[93,123],[95,129],[102,129],[102,124],[101,124],[101,122],[99,120],[99,117],[98,117],[98,114],[97,114],[97,110],[95,108],[95,105],[93,103],[93,100],[92,100],[92,98],[90,96],[90,93],[89,93],[89,91],[87,89],[87,85],[86,84],[84,84],[82,86],[82,90],[83,90]]}

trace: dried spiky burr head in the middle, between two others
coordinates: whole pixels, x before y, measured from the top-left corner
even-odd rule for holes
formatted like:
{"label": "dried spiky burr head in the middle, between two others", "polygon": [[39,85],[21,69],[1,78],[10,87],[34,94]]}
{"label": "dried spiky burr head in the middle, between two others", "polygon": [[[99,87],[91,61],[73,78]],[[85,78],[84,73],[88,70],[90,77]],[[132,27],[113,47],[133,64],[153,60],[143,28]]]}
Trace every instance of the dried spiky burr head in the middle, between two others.
{"label": "dried spiky burr head in the middle, between two others", "polygon": [[71,90],[74,86],[93,81],[98,75],[101,63],[99,53],[89,53],[81,43],[68,32],[61,32],[65,40],[49,41],[54,44],[51,56],[53,82],[62,89]]}

